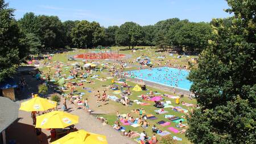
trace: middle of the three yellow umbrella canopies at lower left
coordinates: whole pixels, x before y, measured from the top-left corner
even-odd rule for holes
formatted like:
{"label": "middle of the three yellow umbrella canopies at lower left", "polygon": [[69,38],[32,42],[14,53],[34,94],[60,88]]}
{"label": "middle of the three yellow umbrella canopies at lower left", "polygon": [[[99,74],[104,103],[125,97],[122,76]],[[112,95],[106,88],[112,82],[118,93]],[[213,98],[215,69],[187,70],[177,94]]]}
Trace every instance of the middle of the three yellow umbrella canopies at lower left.
{"label": "middle of the three yellow umbrella canopies at lower left", "polygon": [[61,129],[69,125],[77,124],[79,116],[71,115],[63,111],[52,111],[36,117],[36,128]]}

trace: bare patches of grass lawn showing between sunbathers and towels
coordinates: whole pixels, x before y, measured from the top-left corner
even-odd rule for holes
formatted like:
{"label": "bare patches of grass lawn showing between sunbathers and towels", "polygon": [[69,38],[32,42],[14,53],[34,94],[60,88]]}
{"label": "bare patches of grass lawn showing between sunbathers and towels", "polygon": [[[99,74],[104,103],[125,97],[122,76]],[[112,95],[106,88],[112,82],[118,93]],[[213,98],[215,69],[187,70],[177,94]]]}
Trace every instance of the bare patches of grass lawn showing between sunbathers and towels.
{"label": "bare patches of grass lawn showing between sunbathers and towels", "polygon": [[[134,61],[134,63],[133,63],[132,67],[130,67],[129,69],[125,69],[125,70],[135,70],[135,69],[138,69],[139,65],[135,61],[136,61],[137,57],[142,56],[142,55],[150,57],[152,63],[156,63],[156,61],[158,61],[158,58],[156,58],[156,57],[164,55],[164,56],[166,56],[166,59],[164,59],[164,61],[160,61],[161,63],[164,63],[167,60],[170,60],[172,63],[174,63],[176,65],[187,65],[188,61],[191,58],[195,58],[196,57],[196,56],[190,56],[190,57],[184,57],[183,56],[181,58],[176,58],[177,54],[174,54],[174,56],[169,56],[167,53],[163,53],[163,52],[162,53],[156,53],[155,51],[157,49],[150,49],[150,48],[146,48],[146,46],[139,46],[139,48],[142,48],[142,47],[143,47],[143,49],[139,49],[139,50],[137,50],[134,53],[131,53],[131,50],[122,50],[122,49],[126,49],[127,47],[113,47],[112,51],[117,52],[117,49],[119,49],[119,53],[130,54],[130,58],[127,58],[126,62],[129,63],[129,61]],[[68,61],[68,57],[71,56],[71,55],[79,54],[79,53],[85,53],[85,50],[84,49],[78,49],[78,50],[76,50],[76,52],[66,52],[66,53],[55,54],[52,57],[52,60],[51,60],[52,67],[43,66],[43,67],[39,67],[39,69],[41,71],[43,71],[44,74],[46,74],[48,70],[51,70],[51,76],[52,76],[54,74],[54,72],[55,72],[55,68],[53,67],[55,61],[60,61],[60,62],[63,62],[63,64],[65,65],[65,66],[62,67],[61,75],[65,74],[65,77],[68,77],[69,70],[72,67],[71,66],[72,63],[79,62],[80,65],[82,65],[82,60]],[[48,61],[48,60],[44,60],[44,61]],[[96,60],[96,61],[99,61],[101,63],[103,60]],[[112,66],[113,61],[104,61],[104,63],[110,63],[110,66]],[[104,78],[110,77],[110,73],[108,72],[107,69],[104,70],[104,71],[101,71],[101,72],[97,71],[95,74],[100,75],[100,78],[102,78],[102,77],[104,77]],[[90,79],[90,78],[87,78],[87,79]],[[58,79],[55,79],[55,80],[57,82]],[[79,79],[72,79],[72,82],[77,82],[78,80]],[[96,79],[92,79],[92,80],[95,81],[96,84],[84,83],[84,87],[90,87],[94,91],[97,91],[97,90],[102,91],[105,88],[103,86],[109,86],[111,84],[111,79],[108,79],[105,82],[101,82],[101,81],[98,81]],[[115,78],[115,81],[117,81],[117,78]],[[133,83],[133,82],[128,81],[127,83],[130,86],[135,86],[135,83]],[[117,84],[117,83],[115,83],[115,84]],[[118,84],[118,85],[120,85],[120,84]],[[170,92],[161,91],[161,90],[158,90],[156,88],[148,87],[148,86],[147,86],[147,89],[148,89],[147,91],[139,91],[139,92],[132,91],[132,95],[129,96],[130,100],[135,100],[135,99],[141,100],[141,98],[138,98],[137,96],[138,95],[142,95],[142,94],[146,94],[147,92],[150,92],[150,90],[158,91],[161,94],[175,95],[175,94],[172,94],[172,92],[171,92],[172,89],[171,88],[170,88]],[[86,98],[90,98],[90,97],[93,96],[93,92],[88,92],[88,91],[82,89],[82,86],[76,86],[76,90],[79,91],[79,92],[85,92],[85,97]],[[132,90],[132,88],[131,88],[131,90]],[[65,93],[68,93],[68,92],[69,91],[67,91]],[[108,90],[107,95],[114,95],[112,92],[113,92],[112,90]],[[119,98],[121,97],[119,95],[115,95],[115,96],[118,96]],[[175,100],[174,99],[169,99],[167,97],[164,97],[164,99],[165,99],[164,101],[170,100],[172,102],[171,105],[174,105],[175,107],[176,106],[180,106],[180,107],[183,107],[185,109],[191,110],[191,107],[185,107],[184,105],[181,105],[181,104],[175,104]],[[145,130],[147,132],[147,134],[151,136],[152,135],[152,133],[151,133],[152,125],[156,125],[161,130],[167,130],[168,127],[176,128],[176,126],[175,126],[176,124],[174,122],[171,122],[167,118],[164,118],[164,115],[175,115],[175,116],[179,116],[179,117],[184,115],[184,113],[175,112],[171,108],[164,108],[166,111],[168,111],[168,113],[166,113],[164,115],[156,115],[154,110],[159,109],[159,108],[155,108],[153,106],[154,105],[153,101],[144,101],[144,100],[141,100],[141,101],[142,102],[150,103],[150,105],[142,106],[142,105],[138,105],[136,103],[133,103],[133,105],[131,107],[126,107],[126,106],[122,105],[121,103],[117,103],[115,101],[109,100],[109,105],[113,105],[114,110],[118,110],[119,113],[131,113],[133,115],[133,117],[138,117],[139,116],[138,114],[132,113],[131,111],[133,109],[143,108],[146,111],[145,114],[152,114],[152,115],[158,117],[157,120],[147,120],[148,122],[150,122],[150,126],[147,129],[143,129],[140,126],[137,127],[137,128],[133,128],[132,126],[125,126],[126,130],[131,129],[131,130],[137,131],[139,133],[141,133],[143,130]],[[187,103],[196,104],[196,100],[194,100],[194,99],[193,100],[189,100],[187,97],[181,98],[180,101],[185,101]],[[90,101],[89,101],[89,104],[93,105],[95,103],[90,103]],[[96,110],[96,109],[94,109],[94,110]],[[110,110],[112,110],[112,111],[110,111]],[[105,109],[105,111],[108,111],[108,109]],[[115,111],[113,111],[113,109],[109,109],[109,111],[110,112],[108,114],[106,114],[106,115],[98,115],[98,116],[102,116],[102,117],[106,118],[108,120],[108,122],[109,122],[109,125],[113,125],[114,121],[117,120],[117,117],[115,116]],[[156,122],[161,121],[161,120],[169,121],[169,122],[171,122],[171,125],[165,126],[165,127],[163,127],[161,125],[157,125]],[[183,123],[187,124],[187,121],[184,121]],[[180,128],[176,128],[176,129],[181,130]],[[167,130],[167,131],[170,132],[170,130]],[[177,137],[183,139],[182,141],[178,141],[178,143],[190,143],[188,141],[188,139],[185,137],[184,134],[180,134],[180,133],[176,133],[175,134],[175,133],[171,132],[171,135],[172,136],[176,135]],[[160,138],[160,137],[158,137],[158,138]]]}

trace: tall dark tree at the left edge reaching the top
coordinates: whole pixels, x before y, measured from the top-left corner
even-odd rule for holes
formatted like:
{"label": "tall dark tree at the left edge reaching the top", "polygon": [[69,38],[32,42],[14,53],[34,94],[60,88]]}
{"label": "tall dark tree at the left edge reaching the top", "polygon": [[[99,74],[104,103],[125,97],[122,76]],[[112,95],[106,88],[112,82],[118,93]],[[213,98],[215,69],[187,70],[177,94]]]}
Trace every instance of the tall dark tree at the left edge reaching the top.
{"label": "tall dark tree at the left edge reaching the top", "polygon": [[14,10],[7,7],[5,1],[0,1],[0,82],[15,73],[28,53],[24,35],[13,18]]}

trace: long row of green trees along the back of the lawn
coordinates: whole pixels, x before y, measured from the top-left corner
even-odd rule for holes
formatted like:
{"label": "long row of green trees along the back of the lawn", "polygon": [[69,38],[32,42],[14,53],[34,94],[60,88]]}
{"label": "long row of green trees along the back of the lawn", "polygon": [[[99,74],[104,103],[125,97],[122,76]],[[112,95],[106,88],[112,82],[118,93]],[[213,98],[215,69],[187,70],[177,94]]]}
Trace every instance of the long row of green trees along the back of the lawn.
{"label": "long row of green trees along the back of the lawn", "polygon": [[152,26],[140,26],[126,22],[120,27],[101,27],[97,22],[67,20],[61,22],[57,16],[24,14],[17,21],[26,38],[33,45],[31,52],[56,48],[94,48],[103,46],[136,45],[158,48],[185,47],[192,52],[201,52],[208,44],[211,28],[209,23],[192,23],[178,18],[162,20]]}

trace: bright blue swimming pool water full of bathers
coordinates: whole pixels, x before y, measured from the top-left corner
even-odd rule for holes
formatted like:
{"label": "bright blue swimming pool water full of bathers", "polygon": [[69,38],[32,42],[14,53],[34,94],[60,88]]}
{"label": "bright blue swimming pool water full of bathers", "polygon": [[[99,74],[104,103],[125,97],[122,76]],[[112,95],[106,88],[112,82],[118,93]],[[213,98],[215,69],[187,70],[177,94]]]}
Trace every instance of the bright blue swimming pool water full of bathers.
{"label": "bright blue swimming pool water full of bathers", "polygon": [[188,81],[188,70],[180,70],[171,67],[158,67],[127,71],[130,77],[155,82],[165,86],[177,87],[189,91],[192,82]]}

